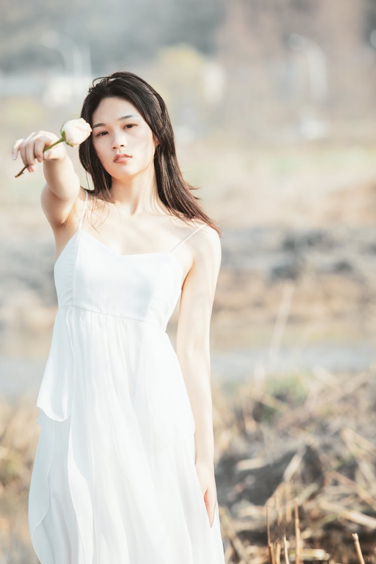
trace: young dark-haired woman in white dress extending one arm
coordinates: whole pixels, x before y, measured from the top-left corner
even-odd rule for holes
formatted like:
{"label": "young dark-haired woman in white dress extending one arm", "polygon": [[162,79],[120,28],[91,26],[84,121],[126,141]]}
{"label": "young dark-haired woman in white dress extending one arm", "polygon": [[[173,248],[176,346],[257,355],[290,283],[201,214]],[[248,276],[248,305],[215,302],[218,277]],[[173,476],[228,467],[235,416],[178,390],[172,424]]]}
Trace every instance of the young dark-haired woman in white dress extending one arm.
{"label": "young dark-haired woman in white dress extending one arm", "polygon": [[30,536],[42,564],[223,564],[209,356],[220,231],[182,177],[161,96],[130,72],[96,80],[79,146],[93,191],[64,143],[43,154],[54,134],[14,145],[29,171],[43,162],[57,254]]}

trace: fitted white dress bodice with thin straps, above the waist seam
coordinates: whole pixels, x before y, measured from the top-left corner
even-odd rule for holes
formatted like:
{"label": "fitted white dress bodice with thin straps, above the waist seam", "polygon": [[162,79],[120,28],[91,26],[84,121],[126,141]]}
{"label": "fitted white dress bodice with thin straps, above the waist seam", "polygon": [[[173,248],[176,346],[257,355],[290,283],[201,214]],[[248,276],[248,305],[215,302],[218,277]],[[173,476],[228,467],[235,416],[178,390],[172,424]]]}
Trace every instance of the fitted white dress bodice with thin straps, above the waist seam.
{"label": "fitted white dress bodice with thin straps, above the waist seam", "polygon": [[182,292],[183,267],[172,250],[206,224],[171,251],[123,255],[82,230],[86,205],[87,192],[78,230],[55,262],[59,308],[76,306],[144,321],[165,331]]}

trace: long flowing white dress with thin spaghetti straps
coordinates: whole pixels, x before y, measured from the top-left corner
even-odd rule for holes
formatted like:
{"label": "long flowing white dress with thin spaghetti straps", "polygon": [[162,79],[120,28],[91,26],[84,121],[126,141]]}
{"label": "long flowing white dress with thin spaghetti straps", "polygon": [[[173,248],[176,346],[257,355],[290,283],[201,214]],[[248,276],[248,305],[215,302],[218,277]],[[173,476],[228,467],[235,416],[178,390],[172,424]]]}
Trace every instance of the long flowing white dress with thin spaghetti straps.
{"label": "long flowing white dress with thin spaghetti straps", "polygon": [[41,564],[224,564],[194,466],[194,419],[166,333],[172,251],[114,252],[81,229],[54,265],[29,531]]}

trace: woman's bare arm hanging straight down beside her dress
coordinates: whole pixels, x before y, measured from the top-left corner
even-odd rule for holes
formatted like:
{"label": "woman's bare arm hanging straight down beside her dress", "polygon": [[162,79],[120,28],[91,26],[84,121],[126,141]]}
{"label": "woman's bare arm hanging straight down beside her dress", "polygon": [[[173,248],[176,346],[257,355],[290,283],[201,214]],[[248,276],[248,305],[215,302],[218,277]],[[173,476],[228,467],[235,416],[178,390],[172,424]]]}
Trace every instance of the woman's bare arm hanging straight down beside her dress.
{"label": "woman's bare arm hanging straight down beside her dress", "polygon": [[[193,243],[194,240],[194,243]],[[185,277],[180,297],[176,354],[194,417],[196,471],[204,495],[210,526],[214,519],[213,405],[210,374],[210,319],[222,249],[212,227],[192,238],[193,265]]]}

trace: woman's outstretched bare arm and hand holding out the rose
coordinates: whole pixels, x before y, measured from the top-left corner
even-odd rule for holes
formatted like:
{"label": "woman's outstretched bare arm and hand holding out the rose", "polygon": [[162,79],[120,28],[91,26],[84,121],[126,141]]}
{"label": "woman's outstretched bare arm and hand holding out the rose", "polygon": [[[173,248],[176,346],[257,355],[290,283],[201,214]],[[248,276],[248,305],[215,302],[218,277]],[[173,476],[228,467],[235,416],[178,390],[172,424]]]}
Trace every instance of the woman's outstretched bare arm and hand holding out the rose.
{"label": "woman's outstretched bare arm and hand holding out the rose", "polygon": [[79,177],[73,168],[64,142],[58,143],[46,156],[43,149],[59,138],[49,131],[31,133],[26,139],[17,139],[13,146],[12,154],[18,151],[24,165],[28,165],[30,172],[36,170],[35,161],[43,162],[43,174],[46,184],[41,192],[42,209],[52,228],[64,225],[77,200],[80,186]]}

